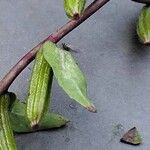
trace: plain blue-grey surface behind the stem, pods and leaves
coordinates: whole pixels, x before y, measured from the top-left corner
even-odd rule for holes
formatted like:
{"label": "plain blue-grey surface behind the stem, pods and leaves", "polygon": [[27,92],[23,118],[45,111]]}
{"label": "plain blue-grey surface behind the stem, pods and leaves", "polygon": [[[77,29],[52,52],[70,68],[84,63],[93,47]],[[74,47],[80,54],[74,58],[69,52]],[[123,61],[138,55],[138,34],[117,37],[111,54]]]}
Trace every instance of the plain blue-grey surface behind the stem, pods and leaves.
{"label": "plain blue-grey surface behind the stem, pods and leaves", "polygon": [[[88,1],[89,3],[90,1]],[[0,0],[0,77],[30,48],[68,19],[61,0]],[[17,135],[19,150],[149,150],[150,48],[136,39],[135,24],[143,5],[111,0],[61,42],[71,44],[88,80],[92,114],[53,84],[52,110],[71,122],[59,130]],[[32,65],[11,86],[27,96]],[[134,147],[119,142],[136,126],[144,139]]]}

